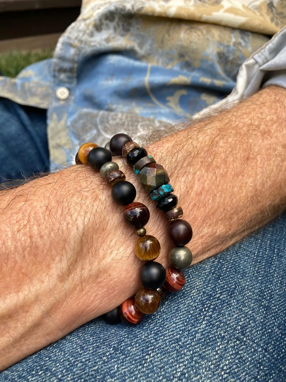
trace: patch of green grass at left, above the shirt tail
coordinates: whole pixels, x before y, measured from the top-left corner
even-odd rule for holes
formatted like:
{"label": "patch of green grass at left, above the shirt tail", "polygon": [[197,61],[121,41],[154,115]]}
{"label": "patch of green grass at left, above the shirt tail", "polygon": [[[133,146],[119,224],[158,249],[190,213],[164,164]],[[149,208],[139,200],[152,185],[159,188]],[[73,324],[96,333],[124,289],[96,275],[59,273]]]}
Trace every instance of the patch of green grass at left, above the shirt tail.
{"label": "patch of green grass at left, above the shirt tail", "polygon": [[42,49],[34,52],[9,52],[0,54],[0,71],[4,76],[16,77],[26,66],[53,57],[54,49]]}

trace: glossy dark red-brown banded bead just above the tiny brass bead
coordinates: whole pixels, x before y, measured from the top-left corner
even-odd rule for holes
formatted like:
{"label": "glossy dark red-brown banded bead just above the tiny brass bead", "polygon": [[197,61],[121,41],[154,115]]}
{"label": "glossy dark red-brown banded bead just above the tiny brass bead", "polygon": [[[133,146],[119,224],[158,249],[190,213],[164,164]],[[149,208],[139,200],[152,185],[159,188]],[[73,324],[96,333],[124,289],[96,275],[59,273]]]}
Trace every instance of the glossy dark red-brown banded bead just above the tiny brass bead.
{"label": "glossy dark red-brown banded bead just above the tiny brass bead", "polygon": [[150,212],[145,204],[133,202],[124,207],[123,219],[125,224],[137,230],[138,228],[144,227],[144,225],[148,223],[150,219]]}

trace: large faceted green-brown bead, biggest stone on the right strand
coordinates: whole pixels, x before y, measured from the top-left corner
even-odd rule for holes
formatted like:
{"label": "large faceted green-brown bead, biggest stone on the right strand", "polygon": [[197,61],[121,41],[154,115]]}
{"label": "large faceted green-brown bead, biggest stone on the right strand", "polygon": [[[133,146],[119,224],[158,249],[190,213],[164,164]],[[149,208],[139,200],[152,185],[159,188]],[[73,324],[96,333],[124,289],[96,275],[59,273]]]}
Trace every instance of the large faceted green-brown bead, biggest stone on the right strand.
{"label": "large faceted green-brown bead, biggest stone on the right strand", "polygon": [[139,172],[139,180],[145,191],[151,193],[169,182],[169,176],[163,166],[150,163]]}

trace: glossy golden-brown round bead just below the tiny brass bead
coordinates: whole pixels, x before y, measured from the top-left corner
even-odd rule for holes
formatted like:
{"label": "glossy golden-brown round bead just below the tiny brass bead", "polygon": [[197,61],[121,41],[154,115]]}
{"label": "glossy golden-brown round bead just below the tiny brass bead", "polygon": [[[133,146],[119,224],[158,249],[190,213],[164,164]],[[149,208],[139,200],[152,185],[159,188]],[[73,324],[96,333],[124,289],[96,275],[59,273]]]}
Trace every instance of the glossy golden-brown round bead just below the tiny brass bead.
{"label": "glossy golden-brown round bead just below the tiny brass bead", "polygon": [[159,241],[151,235],[138,237],[135,243],[135,254],[142,261],[157,259],[161,251]]}

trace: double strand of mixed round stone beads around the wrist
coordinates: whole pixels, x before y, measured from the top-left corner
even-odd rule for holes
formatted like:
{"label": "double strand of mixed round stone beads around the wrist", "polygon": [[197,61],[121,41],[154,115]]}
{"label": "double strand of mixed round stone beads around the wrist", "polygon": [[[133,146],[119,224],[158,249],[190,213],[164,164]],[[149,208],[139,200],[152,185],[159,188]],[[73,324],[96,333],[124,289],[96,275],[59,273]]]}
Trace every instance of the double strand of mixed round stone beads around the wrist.
{"label": "double strand of mixed round stone beads around the wrist", "polygon": [[[154,236],[146,235],[144,225],[150,217],[148,207],[134,202],[136,189],[125,180],[117,163],[111,161],[111,155],[122,155],[127,160],[139,176],[143,188],[156,201],[157,209],[164,212],[165,219],[169,222],[167,232],[175,246],[169,252],[171,267],[166,270],[154,261],[160,253],[159,241]],[[185,244],[192,238],[192,228],[181,219],[183,210],[177,206],[178,198],[172,194],[174,189],[169,184],[165,169],[127,134],[116,134],[105,148],[90,142],[83,144],[76,155],[76,164],[88,164],[93,170],[100,171],[101,177],[112,188],[113,201],[125,206],[124,222],[136,229],[138,239],[135,243],[135,254],[145,261],[139,273],[143,288],[140,288],[135,298],[125,300],[119,307],[101,317],[110,324],[121,321],[138,324],[144,314],[154,313],[161,306],[165,299],[165,290],[176,292],[185,285],[182,269],[189,267],[192,261],[192,253]]]}

